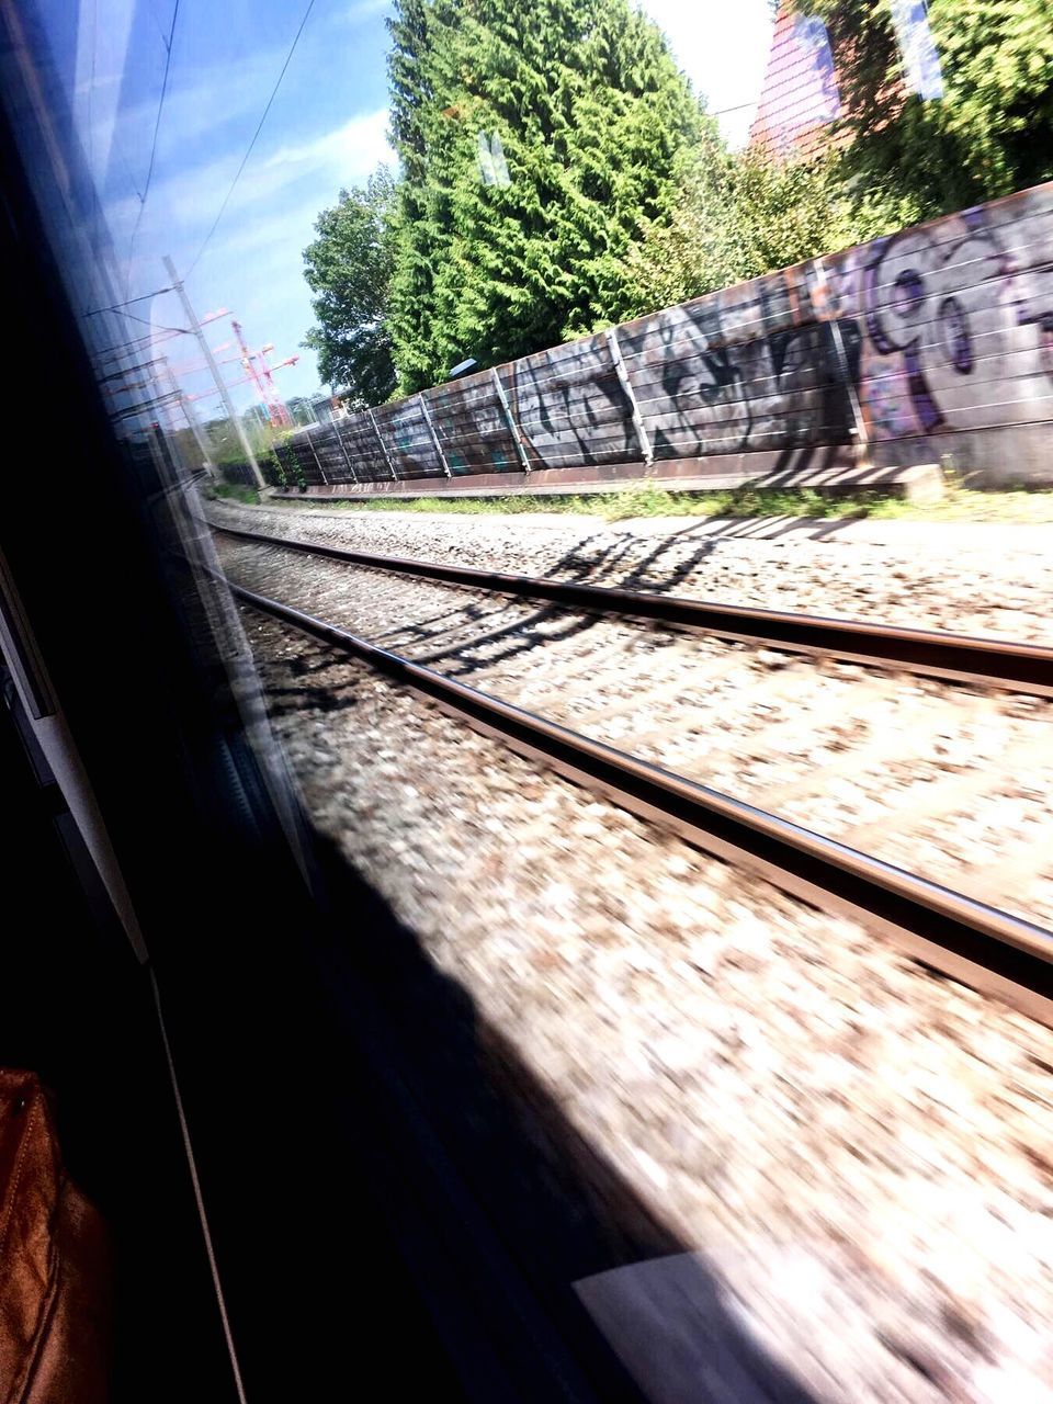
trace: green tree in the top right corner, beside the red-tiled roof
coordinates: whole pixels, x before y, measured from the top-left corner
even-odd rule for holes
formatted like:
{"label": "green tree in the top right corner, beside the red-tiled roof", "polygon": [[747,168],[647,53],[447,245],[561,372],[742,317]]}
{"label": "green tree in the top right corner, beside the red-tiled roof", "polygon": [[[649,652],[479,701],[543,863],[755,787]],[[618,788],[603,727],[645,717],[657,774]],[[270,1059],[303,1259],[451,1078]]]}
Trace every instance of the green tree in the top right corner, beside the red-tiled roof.
{"label": "green tree in the top right corner, beside the red-tiled roof", "polygon": [[906,91],[889,0],[799,0],[827,25],[854,191],[913,218],[1053,178],[1050,0],[928,0],[942,98]]}

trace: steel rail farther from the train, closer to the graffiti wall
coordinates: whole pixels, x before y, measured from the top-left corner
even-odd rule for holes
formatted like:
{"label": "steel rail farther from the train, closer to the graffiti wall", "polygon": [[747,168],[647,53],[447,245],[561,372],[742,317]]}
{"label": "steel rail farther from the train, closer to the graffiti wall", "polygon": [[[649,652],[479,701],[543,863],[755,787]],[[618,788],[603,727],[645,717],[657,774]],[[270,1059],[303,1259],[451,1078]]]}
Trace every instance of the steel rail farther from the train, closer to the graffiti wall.
{"label": "steel rail farther from the train, closer to the graffiti wall", "polygon": [[326,556],[330,560],[366,566],[372,570],[396,571],[526,600],[549,600],[588,614],[647,619],[748,643],[764,643],[775,649],[789,649],[795,653],[835,656],[854,663],[893,665],[959,682],[993,684],[1033,696],[1053,696],[1053,647],[1045,644],[974,637],[935,629],[907,629],[899,625],[869,623],[865,619],[786,614],[753,605],[726,605],[611,585],[583,585],[576,581],[477,570],[409,556],[375,555],[345,546],[327,546],[323,542],[218,526],[215,522],[211,525],[225,536],[277,546],[282,550]]}

